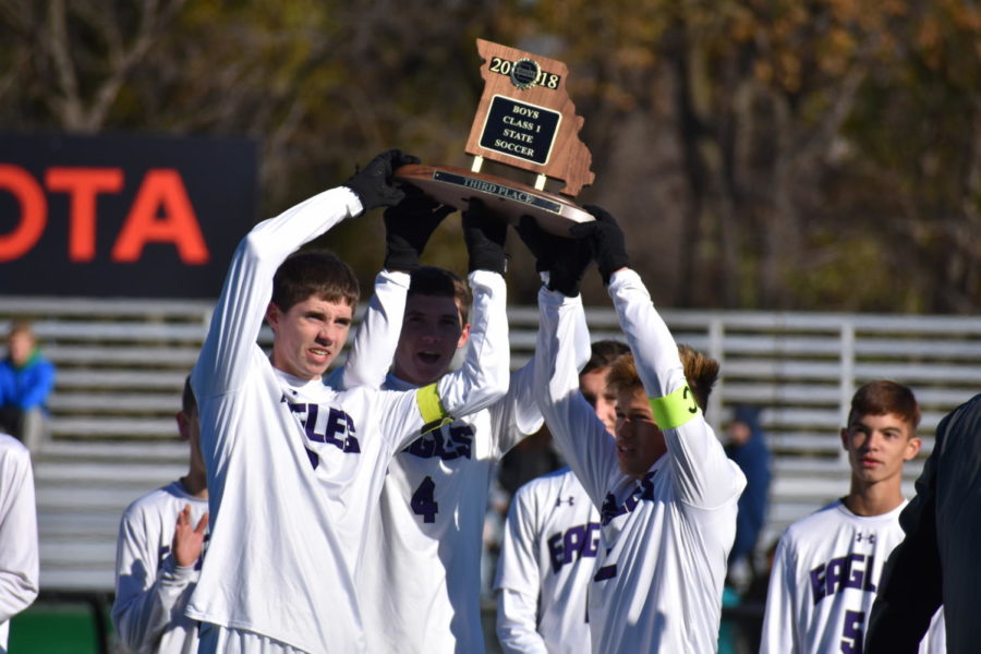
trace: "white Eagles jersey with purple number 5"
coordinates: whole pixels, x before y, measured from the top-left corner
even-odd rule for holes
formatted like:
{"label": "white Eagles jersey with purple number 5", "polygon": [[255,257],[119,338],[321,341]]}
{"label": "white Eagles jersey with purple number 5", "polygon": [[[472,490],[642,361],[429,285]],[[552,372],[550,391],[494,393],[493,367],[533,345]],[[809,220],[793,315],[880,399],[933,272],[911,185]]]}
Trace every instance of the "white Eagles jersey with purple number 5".
{"label": "white Eagles jersey with purple number 5", "polygon": [[[859,654],[882,577],[903,538],[903,502],[882,516],[856,516],[835,500],[787,528],[770,577],[761,654]],[[937,611],[920,643],[945,651]]]}

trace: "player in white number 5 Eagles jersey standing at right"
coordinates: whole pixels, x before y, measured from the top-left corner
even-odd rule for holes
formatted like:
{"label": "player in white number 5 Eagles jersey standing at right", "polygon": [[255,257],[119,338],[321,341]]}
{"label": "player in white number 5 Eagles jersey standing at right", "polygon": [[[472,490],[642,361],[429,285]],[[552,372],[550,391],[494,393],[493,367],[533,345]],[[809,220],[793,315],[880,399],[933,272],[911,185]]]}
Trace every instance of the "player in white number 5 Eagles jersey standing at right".
{"label": "player in white number 5 Eagles jersey standing at right", "polygon": [[[851,488],[780,536],[761,654],[862,652],[882,568],[903,541],[903,464],[920,451],[919,423],[906,386],[876,380],[856,391],[841,429]],[[944,651],[942,637],[929,640],[921,652]]]}

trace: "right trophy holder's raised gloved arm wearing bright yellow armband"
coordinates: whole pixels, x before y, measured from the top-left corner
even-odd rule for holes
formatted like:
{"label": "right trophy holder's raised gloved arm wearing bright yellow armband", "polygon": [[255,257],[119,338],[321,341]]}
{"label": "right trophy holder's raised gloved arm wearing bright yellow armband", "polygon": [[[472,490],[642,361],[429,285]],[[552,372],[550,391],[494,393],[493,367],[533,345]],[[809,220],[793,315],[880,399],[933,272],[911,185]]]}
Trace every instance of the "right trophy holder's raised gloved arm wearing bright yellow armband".
{"label": "right trophy holder's raised gloved arm wearing bright yellow armband", "polygon": [[678,346],[647,289],[640,276],[626,267],[623,232],[608,213],[588,208],[596,220],[580,223],[572,231],[589,239],[593,247],[638,375],[651,399],[654,420],[664,432],[680,498],[700,508],[715,508],[738,498],[746,477],[726,457],[695,403]]}

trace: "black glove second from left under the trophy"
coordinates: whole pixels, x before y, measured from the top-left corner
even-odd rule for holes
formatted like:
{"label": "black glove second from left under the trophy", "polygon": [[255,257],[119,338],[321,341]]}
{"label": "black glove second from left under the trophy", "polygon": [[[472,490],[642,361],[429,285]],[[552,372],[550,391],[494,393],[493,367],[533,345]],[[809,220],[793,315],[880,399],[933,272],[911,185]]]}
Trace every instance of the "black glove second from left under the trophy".
{"label": "black glove second from left under the trophy", "polygon": [[440,205],[415,186],[405,186],[405,199],[385,209],[385,268],[419,268],[429,237],[453,211],[453,207]]}

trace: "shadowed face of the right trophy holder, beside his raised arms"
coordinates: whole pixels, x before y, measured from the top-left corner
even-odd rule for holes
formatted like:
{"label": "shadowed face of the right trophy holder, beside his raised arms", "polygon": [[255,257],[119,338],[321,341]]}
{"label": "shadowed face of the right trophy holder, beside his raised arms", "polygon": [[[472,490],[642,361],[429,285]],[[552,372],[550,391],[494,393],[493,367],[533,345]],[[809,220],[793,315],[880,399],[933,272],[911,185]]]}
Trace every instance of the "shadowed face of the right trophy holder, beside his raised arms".
{"label": "shadowed face of the right trophy holder, beside his raised arms", "polygon": [[642,388],[617,393],[617,463],[620,472],[641,477],[667,451]]}

